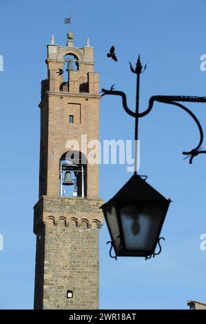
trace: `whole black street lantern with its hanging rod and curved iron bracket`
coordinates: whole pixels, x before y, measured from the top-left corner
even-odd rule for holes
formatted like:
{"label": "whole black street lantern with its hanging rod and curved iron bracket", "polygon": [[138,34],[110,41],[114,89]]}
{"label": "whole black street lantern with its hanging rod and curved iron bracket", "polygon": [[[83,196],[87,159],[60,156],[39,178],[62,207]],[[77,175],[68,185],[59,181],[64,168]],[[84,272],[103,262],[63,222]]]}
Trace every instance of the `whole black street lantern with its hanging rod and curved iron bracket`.
{"label": "whole black street lantern with its hanging rod and curved iron bracket", "polygon": [[[121,188],[110,201],[102,205],[101,208],[112,239],[110,242],[110,256],[112,256],[111,251],[112,247],[114,247],[116,256],[145,256],[146,259],[150,259],[152,255],[155,256],[161,252],[159,241],[164,238],[160,238],[159,236],[170,200],[165,199],[164,196],[152,188],[151,185],[145,181],[146,179],[142,179],[143,176],[137,175],[138,120],[151,112],[155,101],[175,105],[187,112],[195,121],[200,132],[200,141],[198,145],[190,151],[183,152],[184,155],[187,155],[185,159],[189,157],[189,164],[192,164],[195,156],[198,156],[198,154],[206,154],[206,150],[201,150],[203,143],[203,128],[194,113],[180,102],[205,103],[206,97],[153,96],[149,100],[148,108],[143,112],[139,112],[140,75],[145,71],[146,65],[143,68],[140,57],[138,56],[136,68],[133,68],[130,63],[130,69],[132,73],[136,74],[135,112],[128,108],[126,94],[122,91],[114,90],[114,85],[112,85],[110,90],[102,89],[103,93],[101,97],[107,94],[120,96],[125,112],[135,119],[134,175],[123,188]],[[158,253],[155,252],[157,244],[160,247]],[[116,256],[112,257],[116,259]]]}

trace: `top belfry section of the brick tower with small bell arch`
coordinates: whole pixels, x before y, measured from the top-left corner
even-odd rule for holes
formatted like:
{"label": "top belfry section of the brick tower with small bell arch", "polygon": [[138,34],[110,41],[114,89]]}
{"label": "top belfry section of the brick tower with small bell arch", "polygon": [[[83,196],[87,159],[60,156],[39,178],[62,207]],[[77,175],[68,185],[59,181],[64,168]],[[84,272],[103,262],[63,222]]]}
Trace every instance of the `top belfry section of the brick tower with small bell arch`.
{"label": "top belfry section of the brick tower with small bell arch", "polygon": [[[61,91],[99,96],[99,73],[93,72],[94,48],[88,43],[83,48],[75,48],[74,34],[70,32],[68,35],[72,36],[68,38],[67,46],[54,43],[48,45],[48,57],[45,61],[48,65],[48,79],[42,83],[42,95],[47,91]],[[65,65],[67,68],[64,71]],[[64,78],[65,74],[67,79]]]}

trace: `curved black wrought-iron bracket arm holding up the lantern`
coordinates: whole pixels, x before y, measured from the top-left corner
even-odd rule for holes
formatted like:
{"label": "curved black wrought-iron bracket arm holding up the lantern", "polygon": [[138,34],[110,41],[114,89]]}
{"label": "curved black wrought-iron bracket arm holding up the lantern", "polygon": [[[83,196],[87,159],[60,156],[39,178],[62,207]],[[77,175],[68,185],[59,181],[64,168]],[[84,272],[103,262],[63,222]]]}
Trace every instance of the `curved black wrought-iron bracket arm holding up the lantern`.
{"label": "curved black wrought-iron bracket arm holding up the lantern", "polygon": [[127,106],[127,97],[125,95],[124,92],[122,91],[116,91],[113,90],[113,86],[111,87],[111,90],[105,90],[102,89],[103,94],[101,95],[101,97],[103,97],[105,94],[112,94],[112,95],[116,95],[116,96],[120,96],[122,97],[122,101],[123,101],[123,108],[125,110],[125,112],[127,112],[127,114],[130,114],[130,116],[132,117],[145,117],[147,114],[149,114],[153,108],[154,105],[154,101],[158,101],[161,103],[169,103],[171,105],[176,105],[179,108],[185,110],[185,112],[187,112],[196,122],[196,125],[198,126],[198,130],[200,132],[200,141],[198,143],[198,145],[196,146],[196,148],[190,150],[189,152],[183,152],[184,155],[188,155],[188,157],[190,156],[189,159],[189,164],[192,164],[192,160],[194,159],[194,156],[197,156],[198,154],[206,154],[205,150],[200,151],[200,146],[203,143],[203,128],[200,125],[200,122],[198,121],[198,119],[196,118],[196,116],[193,114],[193,112],[191,110],[189,110],[187,107],[185,107],[184,105],[182,105],[181,103],[178,103],[176,101],[183,101],[183,102],[198,102],[198,103],[205,103],[206,102],[206,97],[192,97],[192,96],[153,96],[150,98],[149,101],[149,106],[147,108],[147,110],[145,110],[144,112],[140,112],[136,115],[135,112],[132,112],[132,110],[130,110],[130,108],[128,108]]}

